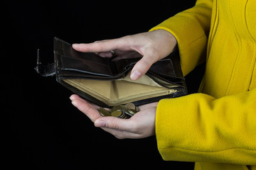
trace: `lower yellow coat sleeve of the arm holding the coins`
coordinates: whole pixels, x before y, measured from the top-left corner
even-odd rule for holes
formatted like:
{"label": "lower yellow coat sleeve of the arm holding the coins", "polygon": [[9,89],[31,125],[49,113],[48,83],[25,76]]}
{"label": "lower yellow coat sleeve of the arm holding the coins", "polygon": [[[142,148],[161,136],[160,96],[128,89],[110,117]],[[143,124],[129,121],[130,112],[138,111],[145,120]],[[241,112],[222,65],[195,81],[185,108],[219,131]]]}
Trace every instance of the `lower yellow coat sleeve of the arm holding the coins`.
{"label": "lower yellow coat sleeve of the arm holding the coins", "polygon": [[156,140],[165,160],[256,164],[256,89],[213,98],[163,99]]}

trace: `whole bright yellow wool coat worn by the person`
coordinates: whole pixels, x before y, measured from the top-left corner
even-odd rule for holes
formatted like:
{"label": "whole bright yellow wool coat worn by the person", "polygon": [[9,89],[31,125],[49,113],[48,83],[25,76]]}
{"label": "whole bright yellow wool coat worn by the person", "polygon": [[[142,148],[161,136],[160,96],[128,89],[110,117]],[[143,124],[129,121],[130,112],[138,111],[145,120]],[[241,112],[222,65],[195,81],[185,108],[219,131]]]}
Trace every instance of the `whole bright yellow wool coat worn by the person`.
{"label": "whole bright yellow wool coat worn by the person", "polygon": [[163,159],[256,169],[256,1],[198,0],[156,29],[176,37],[184,75],[206,61],[201,93],[157,106]]}

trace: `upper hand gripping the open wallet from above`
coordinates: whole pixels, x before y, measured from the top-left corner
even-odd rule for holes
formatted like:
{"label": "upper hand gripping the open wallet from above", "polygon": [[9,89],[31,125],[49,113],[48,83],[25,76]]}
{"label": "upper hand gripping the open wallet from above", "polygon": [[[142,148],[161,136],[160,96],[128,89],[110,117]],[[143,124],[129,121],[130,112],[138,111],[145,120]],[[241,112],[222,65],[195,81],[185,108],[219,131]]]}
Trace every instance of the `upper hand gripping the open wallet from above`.
{"label": "upper hand gripping the open wallet from above", "polygon": [[124,57],[131,57],[127,52],[139,52],[140,57],[143,57],[134,65],[131,72],[131,79],[137,80],[149,70],[154,62],[171,54],[176,44],[176,38],[168,31],[154,30],[112,40],[73,44],[73,48],[80,52],[97,52],[102,57],[112,57],[112,52],[110,52],[112,50],[116,55]]}

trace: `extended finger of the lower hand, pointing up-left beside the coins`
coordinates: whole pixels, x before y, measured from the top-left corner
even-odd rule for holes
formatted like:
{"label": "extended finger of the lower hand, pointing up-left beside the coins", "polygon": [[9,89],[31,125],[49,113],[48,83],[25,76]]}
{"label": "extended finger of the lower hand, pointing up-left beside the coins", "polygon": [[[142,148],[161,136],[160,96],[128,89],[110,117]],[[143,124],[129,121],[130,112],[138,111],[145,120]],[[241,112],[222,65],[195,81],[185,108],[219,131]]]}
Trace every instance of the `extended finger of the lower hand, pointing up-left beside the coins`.
{"label": "extended finger of the lower hand, pointing up-left beside the coins", "polygon": [[95,106],[92,106],[90,103],[83,99],[73,99],[72,103],[76,108],[78,108],[79,111],[85,113],[85,115],[87,115],[87,117],[90,118],[92,122],[95,122],[95,120],[102,117]]}

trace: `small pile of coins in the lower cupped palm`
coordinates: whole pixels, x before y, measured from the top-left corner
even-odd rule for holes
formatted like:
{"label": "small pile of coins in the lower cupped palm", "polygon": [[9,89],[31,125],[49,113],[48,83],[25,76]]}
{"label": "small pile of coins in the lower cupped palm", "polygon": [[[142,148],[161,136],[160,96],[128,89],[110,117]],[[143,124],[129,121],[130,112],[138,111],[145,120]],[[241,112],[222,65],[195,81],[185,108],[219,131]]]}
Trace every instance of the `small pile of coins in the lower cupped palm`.
{"label": "small pile of coins in the lower cupped palm", "polygon": [[116,118],[127,119],[131,118],[135,113],[139,111],[139,108],[133,103],[127,103],[126,105],[114,106],[107,111],[105,108],[100,108],[100,114],[103,116],[114,116]]}

